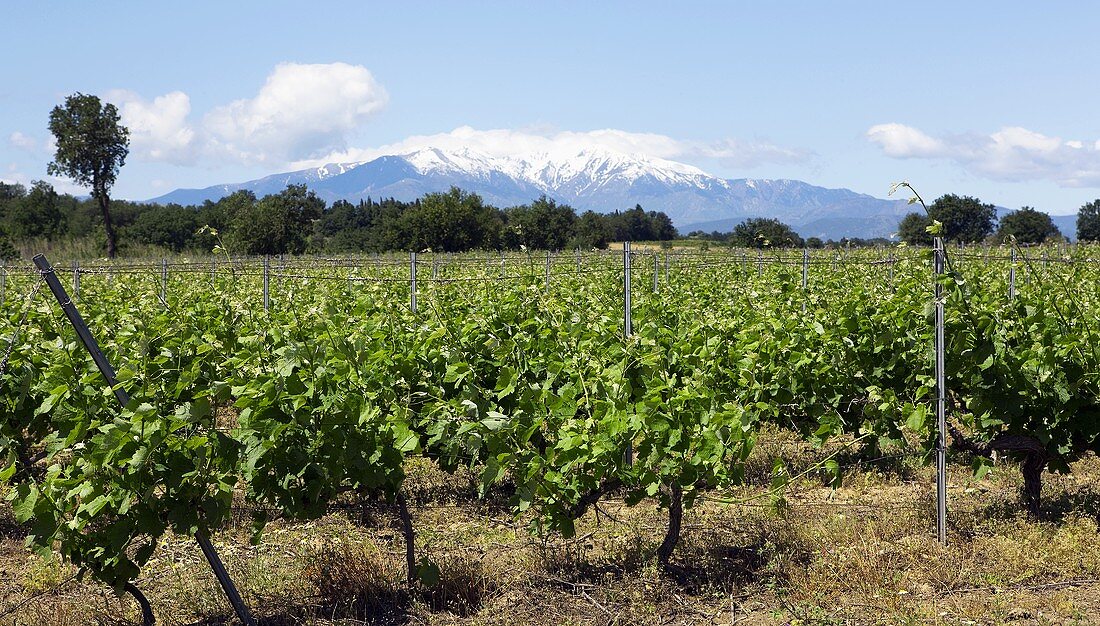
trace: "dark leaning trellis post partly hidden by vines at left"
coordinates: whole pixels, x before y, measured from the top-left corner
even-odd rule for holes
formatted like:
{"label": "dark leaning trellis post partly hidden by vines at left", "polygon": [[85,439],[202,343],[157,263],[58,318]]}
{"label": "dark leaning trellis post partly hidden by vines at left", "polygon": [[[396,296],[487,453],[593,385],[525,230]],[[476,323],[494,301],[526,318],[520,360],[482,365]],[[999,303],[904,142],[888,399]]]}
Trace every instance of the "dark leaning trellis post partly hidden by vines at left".
{"label": "dark leaning trellis post partly hidden by vines at left", "polygon": [[[84,318],[80,317],[80,311],[76,309],[76,305],[65,293],[65,287],[62,286],[61,281],[57,279],[57,274],[54,272],[53,266],[50,261],[42,254],[34,256],[34,264],[37,266],[38,272],[42,274],[42,278],[46,282],[50,290],[53,292],[54,298],[62,306],[62,311],[65,312],[65,317],[68,318],[69,323],[76,330],[77,337],[80,339],[80,343],[84,344],[85,350],[91,355],[91,360],[96,363],[96,367],[99,373],[103,375],[107,384],[111,386],[114,392],[114,398],[119,402],[121,407],[125,407],[130,403],[130,394],[122,388],[119,384],[118,377],[114,373],[114,367],[103,355],[103,352],[99,349],[99,343],[96,342],[96,338],[92,337],[91,331],[88,329],[88,325],[85,323]],[[210,569],[213,570],[215,576],[218,579],[218,583],[221,585],[222,592],[229,600],[230,604],[233,605],[233,611],[237,612],[237,616],[240,617],[241,622],[249,626],[254,626],[255,620],[252,618],[252,613],[249,607],[245,606],[244,601],[241,600],[241,594],[237,591],[237,585],[233,584],[233,579],[230,578],[229,572],[226,571],[226,565],[221,562],[221,557],[218,556],[218,550],[210,542],[210,538],[206,536],[206,532],[201,529],[195,531],[195,540],[199,545],[199,549],[202,550],[202,556],[206,557],[207,562],[210,564]],[[144,608],[144,607],[143,607]]]}

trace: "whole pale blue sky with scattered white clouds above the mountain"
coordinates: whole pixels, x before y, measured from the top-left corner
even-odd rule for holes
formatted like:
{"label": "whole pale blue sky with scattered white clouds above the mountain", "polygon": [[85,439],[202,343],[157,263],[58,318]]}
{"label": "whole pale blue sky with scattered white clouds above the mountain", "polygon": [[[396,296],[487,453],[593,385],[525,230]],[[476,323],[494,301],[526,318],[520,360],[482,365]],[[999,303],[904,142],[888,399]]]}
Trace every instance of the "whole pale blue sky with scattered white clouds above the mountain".
{"label": "whole pale blue sky with scattered white clouds above the mountain", "polygon": [[1072,213],[1100,198],[1100,3],[0,0],[0,180],[74,92],[141,200],[426,145],[607,147],[724,178]]}

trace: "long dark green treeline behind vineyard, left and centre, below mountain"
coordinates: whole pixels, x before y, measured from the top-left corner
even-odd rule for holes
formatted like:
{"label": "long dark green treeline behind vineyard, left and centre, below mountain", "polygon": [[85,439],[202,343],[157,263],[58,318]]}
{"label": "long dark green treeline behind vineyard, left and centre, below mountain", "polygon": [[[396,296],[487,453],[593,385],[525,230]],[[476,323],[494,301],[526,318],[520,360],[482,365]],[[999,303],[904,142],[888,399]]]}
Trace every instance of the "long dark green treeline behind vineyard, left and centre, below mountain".
{"label": "long dark green treeline behind vineyard, left and centre, below mountain", "polygon": [[[541,197],[499,209],[453,187],[408,202],[369,198],[331,206],[305,185],[290,185],[263,198],[237,191],[200,206],[113,200],[111,218],[123,252],[136,245],[209,251],[219,237],[238,254],[300,254],[592,249],[612,241],[664,241],[678,235],[666,213],[640,206],[578,215],[568,205]],[[4,257],[16,254],[12,241],[101,239],[103,232],[94,201],[57,194],[42,182],[30,189],[0,183],[0,224]],[[207,226],[211,228],[202,228]]]}

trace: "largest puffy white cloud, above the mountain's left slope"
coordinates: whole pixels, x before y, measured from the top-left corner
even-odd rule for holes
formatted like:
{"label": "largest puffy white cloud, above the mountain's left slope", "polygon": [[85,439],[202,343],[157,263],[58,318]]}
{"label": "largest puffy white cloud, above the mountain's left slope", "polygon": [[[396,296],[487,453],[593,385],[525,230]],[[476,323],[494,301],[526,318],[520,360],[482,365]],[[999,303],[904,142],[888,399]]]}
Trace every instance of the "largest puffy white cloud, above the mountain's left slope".
{"label": "largest puffy white cloud, above the mountain's left slope", "polygon": [[216,108],[202,128],[211,147],[240,161],[285,163],[345,147],[387,100],[361,65],[284,63],[255,98]]}

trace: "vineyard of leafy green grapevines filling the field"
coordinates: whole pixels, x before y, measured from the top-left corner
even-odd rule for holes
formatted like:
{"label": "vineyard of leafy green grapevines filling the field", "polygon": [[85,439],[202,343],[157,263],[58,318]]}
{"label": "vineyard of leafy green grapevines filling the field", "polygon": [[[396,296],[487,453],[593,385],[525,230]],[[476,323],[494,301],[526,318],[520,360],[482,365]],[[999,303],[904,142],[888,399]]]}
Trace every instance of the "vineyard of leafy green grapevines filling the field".
{"label": "vineyard of leafy green grapevines filling the field", "polygon": [[[113,387],[45,274],[61,279],[87,322],[113,366]],[[741,623],[736,609],[755,602],[754,584],[780,600],[758,612],[762,620],[744,623],[850,623],[845,615],[862,623],[858,612],[829,613],[839,602],[829,594],[842,594],[843,582],[829,591],[818,581],[811,586],[820,596],[800,597],[798,575],[774,568],[809,575],[826,553],[844,552],[844,541],[867,541],[864,531],[886,538],[890,559],[901,559],[903,545],[914,559],[956,554],[944,552],[955,545],[978,559],[976,537],[990,516],[1000,520],[993,536],[1002,550],[1020,543],[1026,551],[1028,541],[1036,553],[1041,545],[1065,550],[1058,542],[1067,537],[1077,547],[1100,543],[1087,488],[1100,475],[1092,462],[1100,450],[1100,250],[1091,246],[952,248],[939,276],[933,251],[902,246],[221,254],[56,264],[45,273],[9,265],[0,281],[0,490],[11,519],[6,525],[0,510],[0,530],[23,537],[35,559],[59,558],[58,571],[86,573],[119,597],[161,586],[148,572],[165,570],[166,558],[191,558],[165,553],[199,553],[182,541],[202,545],[207,535],[237,536],[218,542],[232,548],[227,562],[238,578],[260,567],[241,564],[249,550],[282,546],[292,531],[302,532],[302,545],[323,537],[310,568],[342,580],[330,571],[334,547],[349,561],[370,561],[363,546],[377,542],[351,538],[383,527],[394,529],[386,545],[402,580],[343,604],[321,585],[329,597],[317,602],[329,617],[381,620],[383,596],[417,590],[416,602],[465,619],[476,617],[479,602],[453,609],[457,592],[446,590],[473,561],[443,558],[438,546],[469,540],[483,561],[507,568],[508,557],[492,559],[510,549],[498,536],[508,528],[525,549],[557,550],[547,575],[591,611],[551,617],[560,623],[646,620],[616,617],[629,602],[595,595],[606,592],[607,571],[578,564],[586,562],[580,552],[613,539],[610,569],[650,568],[653,593],[684,606],[681,596],[717,594],[692,601],[676,623]],[[939,451],[954,490],[946,546],[936,540]],[[1077,481],[1071,488],[1068,480]],[[865,499],[845,496],[853,485],[862,485]],[[814,523],[836,543],[805,549],[781,568],[768,550],[788,553],[777,546],[790,539],[796,524],[785,520],[806,498],[850,508]],[[469,528],[497,529],[492,541],[440,520],[459,516],[448,513],[459,505]],[[749,520],[729,517],[746,510]],[[877,513],[906,526],[904,541],[883,530]],[[750,548],[755,539],[738,535],[737,524],[767,528],[767,537]],[[603,525],[618,530],[608,538]],[[707,561],[706,543],[725,557]],[[1068,559],[1072,567],[1044,558],[1008,582],[939,572],[939,586],[920,593],[943,598],[1011,584],[1053,585],[1054,593],[1100,576],[1096,552]],[[229,620],[233,609],[213,584],[202,587],[216,605],[205,614],[161,613],[155,593],[152,608],[167,623]],[[242,586],[243,604],[274,619],[265,606],[276,603],[251,584]],[[38,602],[29,589],[0,601],[0,624],[42,623],[26,613]],[[494,589],[507,596],[503,583]],[[926,615],[916,592],[890,593],[867,598],[878,613],[864,617],[965,623],[957,606]],[[105,613],[127,606],[140,622],[136,605],[113,602]],[[280,611],[280,619],[294,613]],[[486,615],[488,623],[518,619]]]}

